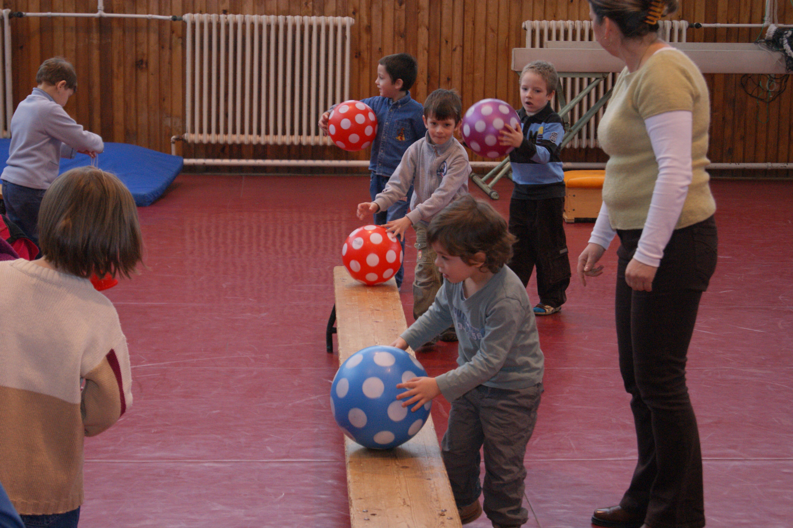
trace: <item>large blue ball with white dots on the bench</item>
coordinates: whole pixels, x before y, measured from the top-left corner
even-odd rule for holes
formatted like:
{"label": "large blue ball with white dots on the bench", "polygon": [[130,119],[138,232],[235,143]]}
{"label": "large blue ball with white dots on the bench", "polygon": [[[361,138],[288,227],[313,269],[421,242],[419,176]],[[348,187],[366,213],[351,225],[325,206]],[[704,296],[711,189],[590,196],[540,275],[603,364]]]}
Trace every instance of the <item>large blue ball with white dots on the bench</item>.
{"label": "large blue ball with white dots on the bench", "polygon": [[[388,450],[408,442],[430,415],[432,402],[419,410],[402,407],[398,383],[427,376],[416,358],[393,346],[368,346],[339,367],[331,385],[331,411],[344,434],[362,446]],[[415,404],[414,404],[415,405]]]}

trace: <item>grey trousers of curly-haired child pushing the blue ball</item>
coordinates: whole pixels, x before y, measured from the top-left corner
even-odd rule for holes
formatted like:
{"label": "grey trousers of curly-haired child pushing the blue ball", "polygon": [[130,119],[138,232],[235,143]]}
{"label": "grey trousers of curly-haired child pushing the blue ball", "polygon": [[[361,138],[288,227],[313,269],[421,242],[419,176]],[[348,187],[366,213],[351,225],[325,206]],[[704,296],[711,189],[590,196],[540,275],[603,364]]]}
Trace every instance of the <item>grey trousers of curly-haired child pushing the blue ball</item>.
{"label": "grey trousers of curly-haired child pushing the blue ball", "polygon": [[[467,506],[484,492],[493,526],[521,526],[526,468],[523,457],[537,423],[542,383],[520,389],[479,385],[451,403],[441,451],[454,500]],[[479,450],[484,446],[485,479],[479,483]]]}

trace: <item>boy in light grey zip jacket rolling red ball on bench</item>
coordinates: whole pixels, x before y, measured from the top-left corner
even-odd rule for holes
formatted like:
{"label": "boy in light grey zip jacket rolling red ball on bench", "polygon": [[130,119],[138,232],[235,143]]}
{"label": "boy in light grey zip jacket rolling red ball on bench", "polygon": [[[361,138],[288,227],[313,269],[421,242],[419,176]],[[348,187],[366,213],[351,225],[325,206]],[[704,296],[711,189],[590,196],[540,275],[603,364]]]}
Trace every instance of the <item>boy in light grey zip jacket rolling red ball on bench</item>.
{"label": "boy in light grey zip jacket rolling red ball on bench", "polygon": [[[454,132],[460,128],[462,101],[454,90],[435,90],[424,101],[422,116],[427,136],[416,141],[402,156],[385,189],[374,201],[358,204],[358,218],[368,213],[385,211],[400,200],[414,186],[411,211],[404,218],[385,224],[395,235],[403,235],[411,225],[416,230],[416,278],[413,281],[413,316],[427,311],[441,285],[435,252],[427,245],[427,224],[441,209],[455,198],[468,193],[471,166],[468,154]],[[454,331],[443,339],[456,341]]]}

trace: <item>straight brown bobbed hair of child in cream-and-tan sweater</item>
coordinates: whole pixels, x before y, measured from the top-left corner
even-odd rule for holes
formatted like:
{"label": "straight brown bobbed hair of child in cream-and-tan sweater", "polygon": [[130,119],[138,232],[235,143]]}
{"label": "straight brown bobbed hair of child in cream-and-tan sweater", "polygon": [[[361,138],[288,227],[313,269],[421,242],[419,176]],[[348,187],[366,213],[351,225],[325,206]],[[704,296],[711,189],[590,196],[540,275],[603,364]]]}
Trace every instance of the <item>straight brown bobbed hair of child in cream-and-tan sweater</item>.
{"label": "straight brown bobbed hair of child in cream-and-tan sweater", "polygon": [[39,243],[58,270],[83,278],[129,277],[143,253],[132,193],[96,167],[67,170],[41,200]]}

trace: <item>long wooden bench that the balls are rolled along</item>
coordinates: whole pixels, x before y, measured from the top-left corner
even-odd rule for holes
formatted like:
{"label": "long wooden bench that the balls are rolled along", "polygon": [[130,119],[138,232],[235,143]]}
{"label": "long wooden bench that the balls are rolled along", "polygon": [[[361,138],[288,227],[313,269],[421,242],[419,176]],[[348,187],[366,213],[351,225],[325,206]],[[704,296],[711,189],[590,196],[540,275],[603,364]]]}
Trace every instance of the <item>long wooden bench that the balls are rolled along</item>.
{"label": "long wooden bench that the balls are rolled along", "polygon": [[[390,345],[408,327],[393,279],[365,286],[336,266],[333,281],[339,364],[366,346]],[[370,450],[345,435],[344,453],[352,528],[462,527],[432,417],[392,450]]]}

